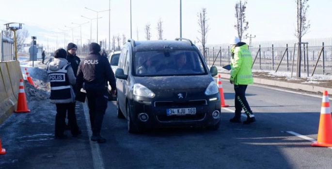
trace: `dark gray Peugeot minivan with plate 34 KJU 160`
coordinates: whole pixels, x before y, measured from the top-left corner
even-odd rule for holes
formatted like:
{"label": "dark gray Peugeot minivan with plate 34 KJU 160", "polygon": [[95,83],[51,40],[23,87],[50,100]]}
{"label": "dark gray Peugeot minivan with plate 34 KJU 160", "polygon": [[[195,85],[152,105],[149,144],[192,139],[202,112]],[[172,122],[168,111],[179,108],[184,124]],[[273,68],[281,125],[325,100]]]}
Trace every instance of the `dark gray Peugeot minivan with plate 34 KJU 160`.
{"label": "dark gray Peugeot minivan with plate 34 KJU 160", "polygon": [[198,50],[188,39],[134,41],[124,45],[117,78],[117,116],[129,133],[144,128],[203,126],[218,130],[219,88]]}

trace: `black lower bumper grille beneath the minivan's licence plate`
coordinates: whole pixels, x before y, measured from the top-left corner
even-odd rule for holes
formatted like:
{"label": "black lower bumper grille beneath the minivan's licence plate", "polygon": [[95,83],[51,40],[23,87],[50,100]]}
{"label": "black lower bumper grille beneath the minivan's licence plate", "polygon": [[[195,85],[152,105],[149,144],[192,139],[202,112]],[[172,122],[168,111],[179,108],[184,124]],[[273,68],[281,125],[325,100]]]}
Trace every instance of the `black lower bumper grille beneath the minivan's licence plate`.
{"label": "black lower bumper grille beneath the minivan's licence plate", "polygon": [[157,115],[157,120],[163,123],[171,122],[190,122],[190,121],[202,121],[205,119],[206,113],[195,114],[195,115],[186,115],[186,116],[165,116]]}

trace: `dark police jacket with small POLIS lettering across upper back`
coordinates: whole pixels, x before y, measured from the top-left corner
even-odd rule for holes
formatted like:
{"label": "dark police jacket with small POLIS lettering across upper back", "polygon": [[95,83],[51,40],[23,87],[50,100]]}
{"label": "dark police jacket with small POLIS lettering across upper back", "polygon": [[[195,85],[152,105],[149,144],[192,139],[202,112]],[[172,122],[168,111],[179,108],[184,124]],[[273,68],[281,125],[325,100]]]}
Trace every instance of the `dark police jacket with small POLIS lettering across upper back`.
{"label": "dark police jacket with small POLIS lettering across upper back", "polygon": [[110,83],[112,90],[115,90],[116,82],[110,62],[98,52],[90,53],[79,63],[76,79],[77,90],[83,87],[83,82],[85,87],[107,88],[107,81]]}

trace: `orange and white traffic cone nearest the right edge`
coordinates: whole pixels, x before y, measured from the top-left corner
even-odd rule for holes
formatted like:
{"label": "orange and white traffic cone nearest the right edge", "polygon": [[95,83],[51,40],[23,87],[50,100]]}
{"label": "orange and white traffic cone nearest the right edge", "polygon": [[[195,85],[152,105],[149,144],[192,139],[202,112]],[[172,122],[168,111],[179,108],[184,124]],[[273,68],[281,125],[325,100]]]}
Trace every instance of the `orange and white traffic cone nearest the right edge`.
{"label": "orange and white traffic cone nearest the right edge", "polygon": [[329,94],[327,91],[324,91],[323,94],[317,141],[312,143],[311,146],[332,147],[332,119]]}

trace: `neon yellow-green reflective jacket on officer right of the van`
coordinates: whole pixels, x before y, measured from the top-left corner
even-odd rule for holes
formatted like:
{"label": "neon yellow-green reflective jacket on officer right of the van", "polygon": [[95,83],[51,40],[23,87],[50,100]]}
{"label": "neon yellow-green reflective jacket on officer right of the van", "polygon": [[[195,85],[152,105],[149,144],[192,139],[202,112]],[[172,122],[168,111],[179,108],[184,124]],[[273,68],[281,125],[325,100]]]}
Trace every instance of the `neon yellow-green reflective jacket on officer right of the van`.
{"label": "neon yellow-green reflective jacket on officer right of the van", "polygon": [[253,84],[253,57],[248,49],[248,45],[244,42],[239,42],[231,49],[231,52],[232,69],[230,80],[234,81],[235,85]]}

